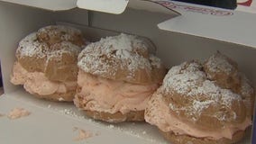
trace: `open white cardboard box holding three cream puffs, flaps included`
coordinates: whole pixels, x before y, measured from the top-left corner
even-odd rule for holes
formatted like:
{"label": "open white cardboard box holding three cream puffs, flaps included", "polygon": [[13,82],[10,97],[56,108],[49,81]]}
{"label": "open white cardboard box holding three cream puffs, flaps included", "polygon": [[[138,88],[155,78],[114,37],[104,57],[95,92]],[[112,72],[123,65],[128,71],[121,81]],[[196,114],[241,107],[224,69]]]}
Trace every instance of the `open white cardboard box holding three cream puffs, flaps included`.
{"label": "open white cardboard box holding three cream puffs, flaps included", "polygon": [[[49,24],[72,24],[84,31],[90,40],[119,31],[149,38],[157,46],[157,56],[167,67],[191,59],[203,60],[220,50],[237,61],[240,69],[256,84],[256,14],[168,2],[179,5],[173,8],[177,14],[160,4],[142,0],[2,1],[5,2],[0,2],[0,58],[5,94],[0,96],[0,113],[8,113],[15,107],[32,112],[29,117],[17,121],[0,118],[0,139],[6,144],[167,143],[158,130],[147,123],[112,125],[93,121],[78,112],[72,103],[36,99],[22,87],[9,82],[18,41]],[[207,13],[228,15],[202,14],[180,8],[187,5]],[[74,127],[98,135],[77,142],[73,140],[78,135]],[[251,143],[251,129],[241,143]]]}

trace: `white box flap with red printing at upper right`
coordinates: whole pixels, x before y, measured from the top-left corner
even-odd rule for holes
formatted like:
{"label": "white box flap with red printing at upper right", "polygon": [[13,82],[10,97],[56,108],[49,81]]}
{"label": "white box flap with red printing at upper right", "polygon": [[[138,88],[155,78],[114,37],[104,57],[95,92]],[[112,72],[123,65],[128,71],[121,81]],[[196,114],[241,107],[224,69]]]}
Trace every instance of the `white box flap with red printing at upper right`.
{"label": "white box flap with red printing at upper right", "polygon": [[160,30],[223,40],[256,48],[256,14],[197,4],[187,5],[168,0],[153,1],[153,3],[161,4],[181,14],[158,24]]}

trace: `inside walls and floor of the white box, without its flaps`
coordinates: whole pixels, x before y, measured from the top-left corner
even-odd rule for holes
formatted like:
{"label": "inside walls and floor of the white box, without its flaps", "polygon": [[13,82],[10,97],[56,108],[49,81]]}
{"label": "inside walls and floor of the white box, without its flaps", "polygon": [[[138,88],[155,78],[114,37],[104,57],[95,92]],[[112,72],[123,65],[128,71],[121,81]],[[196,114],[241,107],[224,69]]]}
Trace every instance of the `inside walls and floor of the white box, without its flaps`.
{"label": "inside walls and floor of the white box, without its flaps", "polygon": [[[30,32],[49,24],[75,24],[91,40],[114,35],[115,31],[149,38],[157,47],[157,56],[167,67],[178,65],[186,60],[204,60],[219,50],[233,58],[242,72],[251,79],[254,85],[256,84],[255,49],[220,40],[160,30],[157,24],[171,16],[173,15],[135,9],[127,9],[123,14],[118,15],[87,12],[87,10],[78,8],[50,12],[0,2],[0,58],[5,87],[5,94],[0,97],[0,113],[7,113],[14,107],[23,107],[32,111],[31,116],[18,121],[0,118],[1,141],[10,144],[17,142],[68,144],[73,142],[75,134],[72,128],[76,126],[85,130],[100,131],[101,134],[88,139],[88,143],[105,143],[105,141],[107,143],[167,142],[160,136],[158,130],[149,124],[123,123],[115,125],[112,129],[110,124],[91,121],[84,117],[83,113],[78,112],[72,103],[52,103],[39,100],[24,92],[20,86],[12,85],[10,74],[19,40]],[[251,130],[248,130],[248,135],[242,143],[250,143],[250,133]]]}

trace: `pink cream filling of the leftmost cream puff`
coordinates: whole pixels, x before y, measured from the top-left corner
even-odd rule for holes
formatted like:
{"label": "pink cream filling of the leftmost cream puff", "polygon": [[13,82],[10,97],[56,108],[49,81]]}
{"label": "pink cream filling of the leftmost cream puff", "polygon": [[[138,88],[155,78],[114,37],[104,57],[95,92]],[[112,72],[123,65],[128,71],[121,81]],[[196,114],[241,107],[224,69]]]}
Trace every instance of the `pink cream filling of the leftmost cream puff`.
{"label": "pink cream filling of the leftmost cream puff", "polygon": [[11,82],[14,85],[23,85],[31,94],[49,95],[54,93],[67,93],[77,87],[76,81],[53,82],[41,72],[28,72],[19,62],[14,63]]}

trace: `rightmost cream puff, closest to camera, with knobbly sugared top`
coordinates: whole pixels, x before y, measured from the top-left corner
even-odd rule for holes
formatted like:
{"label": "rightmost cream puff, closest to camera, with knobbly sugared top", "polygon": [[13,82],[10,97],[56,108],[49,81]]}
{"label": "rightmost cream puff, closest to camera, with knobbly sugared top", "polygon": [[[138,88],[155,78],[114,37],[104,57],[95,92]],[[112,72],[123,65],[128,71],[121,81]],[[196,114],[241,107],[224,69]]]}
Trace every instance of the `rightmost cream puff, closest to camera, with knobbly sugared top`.
{"label": "rightmost cream puff, closest to camera, with knobbly sugared top", "polygon": [[174,144],[230,144],[251,125],[254,90],[237,64],[216,53],[172,67],[151,96],[145,121]]}

